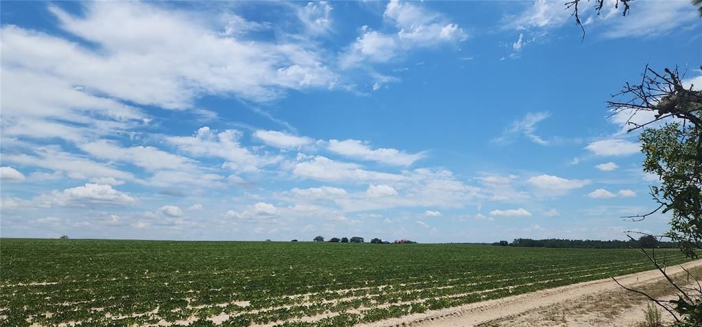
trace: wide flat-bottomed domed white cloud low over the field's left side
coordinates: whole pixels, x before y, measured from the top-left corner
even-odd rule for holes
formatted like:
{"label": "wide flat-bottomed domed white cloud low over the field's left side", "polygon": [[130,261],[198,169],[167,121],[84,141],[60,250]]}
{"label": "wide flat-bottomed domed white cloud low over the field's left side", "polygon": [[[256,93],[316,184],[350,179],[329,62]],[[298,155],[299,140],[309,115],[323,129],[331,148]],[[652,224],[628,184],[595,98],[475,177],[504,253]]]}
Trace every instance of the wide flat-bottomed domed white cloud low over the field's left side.
{"label": "wide flat-bottomed domed white cloud low over the field's left side", "polygon": [[111,185],[86,183],[84,186],[54,190],[35,199],[41,206],[117,206],[135,203],[138,199],[113,189]]}

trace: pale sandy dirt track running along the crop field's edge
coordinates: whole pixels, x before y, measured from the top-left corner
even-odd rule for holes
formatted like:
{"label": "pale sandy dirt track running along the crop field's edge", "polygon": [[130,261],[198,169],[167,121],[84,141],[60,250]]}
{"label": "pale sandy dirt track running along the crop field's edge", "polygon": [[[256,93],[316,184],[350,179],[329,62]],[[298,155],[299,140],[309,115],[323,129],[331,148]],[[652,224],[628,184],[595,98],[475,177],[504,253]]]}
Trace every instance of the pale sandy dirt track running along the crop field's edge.
{"label": "pale sandy dirt track running along the crop field's edge", "polygon": [[[686,269],[702,267],[702,259],[685,262]],[[680,265],[668,267],[666,273],[680,274],[683,269]],[[646,272],[637,272],[623,276],[615,276],[617,281],[625,286],[636,286],[663,279],[657,269]],[[373,323],[364,323],[364,327],[404,327],[404,326],[481,326],[491,321],[509,316],[517,316],[534,309],[556,305],[566,300],[581,298],[593,293],[614,291],[619,289],[611,278],[585,281],[557,288],[548,288],[532,293],[513,295],[507,298],[475,302],[460,307],[451,307],[421,314],[409,314],[399,318],[385,319]]]}

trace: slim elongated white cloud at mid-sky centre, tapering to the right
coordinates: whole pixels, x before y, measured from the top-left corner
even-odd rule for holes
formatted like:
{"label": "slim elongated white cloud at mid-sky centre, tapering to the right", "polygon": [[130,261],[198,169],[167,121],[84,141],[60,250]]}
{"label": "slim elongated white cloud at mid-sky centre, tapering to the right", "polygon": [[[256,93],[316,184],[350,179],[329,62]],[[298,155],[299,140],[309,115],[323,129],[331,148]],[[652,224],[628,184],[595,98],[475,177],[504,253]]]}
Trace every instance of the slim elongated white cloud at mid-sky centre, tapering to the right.
{"label": "slim elongated white cloud at mid-sky centre, tapering to the right", "polygon": [[408,154],[392,148],[371,149],[359,140],[329,140],[329,150],[354,159],[377,161],[395,166],[409,166],[425,157],[424,152]]}

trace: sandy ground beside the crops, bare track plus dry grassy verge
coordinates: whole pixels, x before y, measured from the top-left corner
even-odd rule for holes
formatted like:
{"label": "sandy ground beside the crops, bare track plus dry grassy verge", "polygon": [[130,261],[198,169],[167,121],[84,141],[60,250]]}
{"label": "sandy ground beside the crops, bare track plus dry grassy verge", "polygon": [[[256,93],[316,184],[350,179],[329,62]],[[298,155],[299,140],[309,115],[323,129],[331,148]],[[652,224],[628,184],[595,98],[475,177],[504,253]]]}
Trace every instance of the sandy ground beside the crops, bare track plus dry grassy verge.
{"label": "sandy ground beside the crops, bare track plus dry grassy verge", "polygon": [[[702,273],[702,260],[683,265]],[[668,274],[684,278],[680,267]],[[658,270],[617,277],[625,286],[645,287],[658,298],[675,293]],[[683,279],[683,281],[686,281]],[[461,307],[411,314],[364,325],[376,326],[637,326],[644,319],[648,301],[620,288],[611,279],[587,281],[508,298],[471,303]],[[664,319],[670,319],[663,311]]]}

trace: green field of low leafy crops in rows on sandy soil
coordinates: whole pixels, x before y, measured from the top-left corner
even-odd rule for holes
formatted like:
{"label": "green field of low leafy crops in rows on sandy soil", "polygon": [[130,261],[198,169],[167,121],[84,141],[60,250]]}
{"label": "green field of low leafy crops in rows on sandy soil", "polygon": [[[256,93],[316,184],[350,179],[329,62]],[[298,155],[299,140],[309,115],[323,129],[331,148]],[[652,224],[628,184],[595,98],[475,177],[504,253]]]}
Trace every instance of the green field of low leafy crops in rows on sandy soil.
{"label": "green field of low leafy crops in rows on sandy soil", "polygon": [[1,239],[0,326],[353,326],[651,269],[644,259],[462,244]]}

